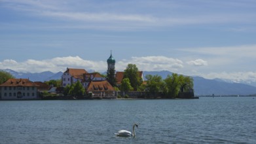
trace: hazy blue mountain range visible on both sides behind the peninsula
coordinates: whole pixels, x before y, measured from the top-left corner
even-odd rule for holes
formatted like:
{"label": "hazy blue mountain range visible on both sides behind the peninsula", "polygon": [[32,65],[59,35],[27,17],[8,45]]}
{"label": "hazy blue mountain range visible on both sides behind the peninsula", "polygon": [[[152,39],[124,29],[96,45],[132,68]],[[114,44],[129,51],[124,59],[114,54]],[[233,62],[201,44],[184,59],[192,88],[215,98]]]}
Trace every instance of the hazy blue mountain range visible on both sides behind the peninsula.
{"label": "hazy blue mountain range visible on both sides behind the peninsula", "polygon": [[[61,79],[62,72],[52,73],[44,71],[42,73],[19,73],[11,69],[3,69],[12,74],[16,79],[29,79],[31,81],[49,81],[51,79]],[[160,75],[166,79],[172,75],[170,71],[143,71],[143,75]],[[204,79],[203,77],[192,77],[194,80],[194,94],[196,96],[229,96],[229,95],[251,95],[256,94],[256,86],[227,81],[223,79]]]}

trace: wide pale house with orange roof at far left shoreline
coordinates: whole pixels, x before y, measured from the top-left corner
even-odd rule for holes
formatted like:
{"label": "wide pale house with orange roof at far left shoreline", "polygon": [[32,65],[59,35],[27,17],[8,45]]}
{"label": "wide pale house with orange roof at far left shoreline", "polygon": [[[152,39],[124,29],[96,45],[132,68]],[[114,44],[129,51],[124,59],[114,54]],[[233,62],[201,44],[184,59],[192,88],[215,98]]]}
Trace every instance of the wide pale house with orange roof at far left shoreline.
{"label": "wide pale house with orange roof at far left shoreline", "polygon": [[37,87],[29,79],[9,79],[0,84],[0,99],[38,99]]}

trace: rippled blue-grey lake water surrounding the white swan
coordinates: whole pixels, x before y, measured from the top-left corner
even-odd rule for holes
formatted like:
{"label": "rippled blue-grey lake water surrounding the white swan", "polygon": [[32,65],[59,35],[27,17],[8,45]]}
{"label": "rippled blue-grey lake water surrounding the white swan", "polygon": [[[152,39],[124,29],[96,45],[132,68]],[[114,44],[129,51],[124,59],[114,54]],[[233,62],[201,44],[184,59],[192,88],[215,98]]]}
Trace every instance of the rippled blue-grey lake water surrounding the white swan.
{"label": "rippled blue-grey lake water surrounding the white swan", "polygon": [[250,97],[0,101],[0,143],[255,143],[255,120]]}

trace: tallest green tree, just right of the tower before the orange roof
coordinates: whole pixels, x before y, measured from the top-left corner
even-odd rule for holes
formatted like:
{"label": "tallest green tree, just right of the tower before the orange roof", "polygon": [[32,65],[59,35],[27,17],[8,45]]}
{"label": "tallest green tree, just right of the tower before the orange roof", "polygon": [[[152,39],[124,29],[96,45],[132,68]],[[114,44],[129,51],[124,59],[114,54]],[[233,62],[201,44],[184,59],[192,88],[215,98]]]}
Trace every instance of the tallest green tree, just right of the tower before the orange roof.
{"label": "tallest green tree, just right of the tower before the orange roof", "polygon": [[124,78],[130,80],[130,84],[134,90],[137,90],[138,86],[142,84],[142,79],[139,77],[138,69],[135,64],[128,64],[124,70]]}

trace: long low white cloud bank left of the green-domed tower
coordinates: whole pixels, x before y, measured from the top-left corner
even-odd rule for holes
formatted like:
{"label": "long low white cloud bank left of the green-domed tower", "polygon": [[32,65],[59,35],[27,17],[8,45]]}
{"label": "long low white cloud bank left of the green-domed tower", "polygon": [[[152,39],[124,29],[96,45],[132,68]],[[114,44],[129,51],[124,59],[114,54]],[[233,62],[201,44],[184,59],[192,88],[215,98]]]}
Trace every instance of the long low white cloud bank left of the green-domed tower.
{"label": "long low white cloud bank left of the green-domed tower", "polygon": [[87,70],[105,71],[106,62],[93,62],[82,60],[79,56],[67,56],[52,58],[49,60],[26,60],[25,62],[16,62],[15,60],[4,60],[0,62],[0,69],[12,69],[19,72],[37,73],[42,71],[64,71],[67,67],[82,68]]}

